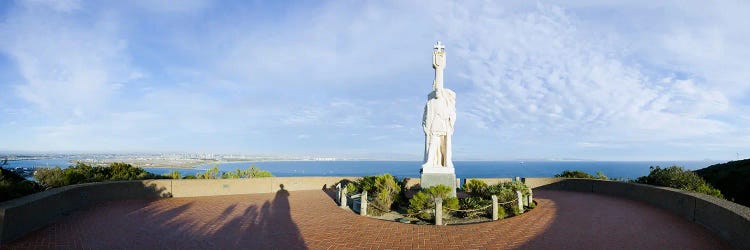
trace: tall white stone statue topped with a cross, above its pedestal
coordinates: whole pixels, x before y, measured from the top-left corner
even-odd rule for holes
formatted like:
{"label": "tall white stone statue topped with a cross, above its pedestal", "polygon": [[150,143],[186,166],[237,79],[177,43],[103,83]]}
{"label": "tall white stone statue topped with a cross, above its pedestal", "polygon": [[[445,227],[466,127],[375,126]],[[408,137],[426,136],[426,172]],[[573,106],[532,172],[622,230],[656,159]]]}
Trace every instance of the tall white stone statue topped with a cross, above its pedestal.
{"label": "tall white stone statue topped with a cross, above its pedestal", "polygon": [[427,95],[422,118],[425,134],[422,171],[453,173],[451,137],[453,124],[456,123],[456,93],[443,88],[445,46],[440,41],[432,52],[432,67],[435,68],[435,81],[432,83],[432,92]]}

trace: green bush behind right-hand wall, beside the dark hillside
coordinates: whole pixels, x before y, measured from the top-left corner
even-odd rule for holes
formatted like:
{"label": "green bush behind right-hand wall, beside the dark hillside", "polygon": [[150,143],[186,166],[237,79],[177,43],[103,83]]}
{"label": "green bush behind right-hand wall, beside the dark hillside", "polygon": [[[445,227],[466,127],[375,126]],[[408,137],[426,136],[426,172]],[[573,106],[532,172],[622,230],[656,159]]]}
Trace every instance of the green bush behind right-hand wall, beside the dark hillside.
{"label": "green bush behind right-hand wall, beside the dark hillside", "polygon": [[696,173],[684,170],[682,167],[671,166],[668,168],[660,168],[659,166],[656,166],[651,167],[650,169],[651,172],[647,176],[638,177],[635,182],[677,188],[724,198],[721,195],[721,191],[711,187],[711,185]]}

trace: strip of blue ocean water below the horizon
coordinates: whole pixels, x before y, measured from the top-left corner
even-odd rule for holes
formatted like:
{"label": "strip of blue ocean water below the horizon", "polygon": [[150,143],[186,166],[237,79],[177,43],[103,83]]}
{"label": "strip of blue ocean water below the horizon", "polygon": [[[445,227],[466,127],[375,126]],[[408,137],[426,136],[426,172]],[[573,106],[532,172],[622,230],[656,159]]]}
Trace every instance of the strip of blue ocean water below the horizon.
{"label": "strip of blue ocean water below the horizon", "polygon": [[[70,159],[46,159],[33,161],[10,161],[8,167],[37,167],[69,165]],[[608,177],[635,179],[648,175],[650,166],[682,166],[695,170],[720,162],[710,161],[456,161],[456,177],[504,178],[504,177],[552,177],[563,170],[581,170],[590,174],[601,171]],[[390,173],[397,177],[419,177],[421,162],[418,161],[261,161],[220,163],[221,171],[247,169],[254,165],[270,171],[274,176],[365,176]],[[194,169],[145,168],[155,174],[166,174],[172,170],[184,175],[202,173],[213,164]]]}

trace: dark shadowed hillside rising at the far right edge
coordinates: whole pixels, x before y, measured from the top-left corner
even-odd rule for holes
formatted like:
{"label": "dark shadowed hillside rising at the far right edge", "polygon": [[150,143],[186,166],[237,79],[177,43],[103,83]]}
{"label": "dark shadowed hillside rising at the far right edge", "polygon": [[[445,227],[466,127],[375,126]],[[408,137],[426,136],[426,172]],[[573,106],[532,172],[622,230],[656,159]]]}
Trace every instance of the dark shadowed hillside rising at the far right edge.
{"label": "dark shadowed hillside rising at the far right edge", "polygon": [[711,165],[695,173],[721,190],[726,199],[750,207],[750,159]]}

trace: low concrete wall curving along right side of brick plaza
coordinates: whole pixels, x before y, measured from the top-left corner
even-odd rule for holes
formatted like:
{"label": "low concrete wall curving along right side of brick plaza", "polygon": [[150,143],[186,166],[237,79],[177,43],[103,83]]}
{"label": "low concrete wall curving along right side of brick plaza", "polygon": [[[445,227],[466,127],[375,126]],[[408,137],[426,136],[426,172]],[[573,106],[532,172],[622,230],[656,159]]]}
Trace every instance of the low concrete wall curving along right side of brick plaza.
{"label": "low concrete wall curving along right side of brick plaza", "polygon": [[642,201],[713,231],[738,249],[750,249],[750,208],[704,194],[619,181],[526,178],[537,189],[593,192]]}

